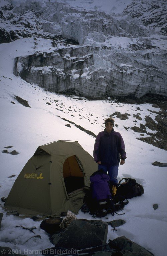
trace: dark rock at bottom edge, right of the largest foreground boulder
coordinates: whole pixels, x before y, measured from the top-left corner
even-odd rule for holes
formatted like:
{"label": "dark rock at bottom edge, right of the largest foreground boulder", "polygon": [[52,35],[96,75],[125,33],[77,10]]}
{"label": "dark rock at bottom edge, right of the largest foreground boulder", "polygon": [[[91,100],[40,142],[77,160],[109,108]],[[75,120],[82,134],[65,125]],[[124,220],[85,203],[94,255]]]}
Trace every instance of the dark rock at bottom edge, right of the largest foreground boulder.
{"label": "dark rock at bottom edge, right of the largest foreground boulder", "polygon": [[[146,256],[152,256],[153,254],[143,248],[142,246],[132,242],[130,239],[125,236],[118,237],[111,242],[111,246],[118,251],[127,251],[127,253],[147,253]],[[125,255],[125,254],[124,254]],[[131,254],[129,254],[131,255]],[[139,254],[140,255],[140,254]]]}

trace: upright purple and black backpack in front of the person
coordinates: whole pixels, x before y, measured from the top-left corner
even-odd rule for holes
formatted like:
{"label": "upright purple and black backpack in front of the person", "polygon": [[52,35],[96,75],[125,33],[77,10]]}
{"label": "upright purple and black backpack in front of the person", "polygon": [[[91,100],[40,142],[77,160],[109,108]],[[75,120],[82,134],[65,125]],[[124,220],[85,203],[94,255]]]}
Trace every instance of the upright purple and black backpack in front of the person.
{"label": "upright purple and black backpack in front of the person", "polygon": [[110,192],[109,179],[109,175],[102,169],[90,176],[90,190],[83,200],[90,214],[98,217],[104,217],[108,213],[114,215],[115,206]]}

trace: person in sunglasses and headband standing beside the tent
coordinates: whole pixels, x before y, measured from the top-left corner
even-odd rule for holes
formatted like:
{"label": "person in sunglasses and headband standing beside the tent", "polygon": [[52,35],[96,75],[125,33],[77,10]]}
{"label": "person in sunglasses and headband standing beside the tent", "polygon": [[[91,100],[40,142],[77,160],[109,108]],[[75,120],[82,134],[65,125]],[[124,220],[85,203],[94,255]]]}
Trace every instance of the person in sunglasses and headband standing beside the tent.
{"label": "person in sunglasses and headband standing beside the tent", "polygon": [[119,162],[123,165],[126,159],[125,144],[121,134],[113,129],[114,119],[107,118],[104,122],[106,128],[96,137],[93,156],[98,170],[108,172],[110,181],[118,183]]}

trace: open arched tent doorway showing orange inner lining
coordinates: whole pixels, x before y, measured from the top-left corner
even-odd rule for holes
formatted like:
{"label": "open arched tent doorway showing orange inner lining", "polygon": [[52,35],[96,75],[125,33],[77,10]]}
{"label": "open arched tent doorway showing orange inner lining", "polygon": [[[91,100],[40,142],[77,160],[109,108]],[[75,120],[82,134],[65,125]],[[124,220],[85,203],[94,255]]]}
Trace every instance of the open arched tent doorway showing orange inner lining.
{"label": "open arched tent doorway showing orange inner lining", "polygon": [[77,157],[68,157],[63,164],[63,177],[66,186],[67,193],[71,193],[74,190],[83,188],[84,178],[82,167],[77,160]]}

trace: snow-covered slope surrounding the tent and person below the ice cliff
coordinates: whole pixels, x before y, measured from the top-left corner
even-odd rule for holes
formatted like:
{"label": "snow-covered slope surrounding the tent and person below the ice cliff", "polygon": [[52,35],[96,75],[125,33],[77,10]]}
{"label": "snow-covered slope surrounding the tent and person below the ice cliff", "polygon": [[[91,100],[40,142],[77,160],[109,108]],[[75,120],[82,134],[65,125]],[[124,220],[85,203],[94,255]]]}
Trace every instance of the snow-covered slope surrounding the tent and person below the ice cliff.
{"label": "snow-covered slope surrounding the tent and person below the ice cliff", "polygon": [[[122,104],[109,100],[90,101],[82,97],[69,97],[45,91],[35,84],[29,84],[13,75],[14,57],[29,55],[35,51],[48,51],[49,40],[38,39],[38,49],[34,49],[33,39],[20,39],[11,43],[0,45],[0,198],[7,197],[10,189],[28,159],[34,154],[36,148],[45,143],[61,140],[75,140],[91,155],[95,139],[81,131],[74,124],[65,126],[66,118],[77,125],[92,131],[96,135],[104,129],[104,119],[115,111],[130,114],[127,120],[115,118],[126,146],[127,159],[119,167],[118,179],[133,177],[143,185],[144,194],[129,200],[124,208],[124,215],[108,215],[107,221],[124,219],[126,223],[111,231],[109,227],[108,239],[113,240],[119,236],[126,236],[132,241],[145,247],[155,256],[166,256],[167,251],[167,167],[153,166],[154,161],[167,162],[167,152],[152,145],[137,140],[139,133],[130,128],[136,123],[145,124],[144,117],[149,115],[155,118],[152,111],[160,109],[152,104]],[[52,49],[50,50],[52,51]],[[31,108],[17,102],[15,95],[28,101]],[[14,102],[15,104],[11,103]],[[51,105],[46,104],[46,102]],[[137,107],[140,110],[137,110]],[[142,121],[133,117],[140,113]],[[134,121],[137,121],[134,123]],[[16,150],[18,155],[4,154],[4,147],[13,146],[8,151]],[[13,178],[9,176],[15,174]],[[158,204],[158,209],[153,209],[153,204]],[[53,247],[48,235],[40,229],[40,222],[30,218],[22,219],[17,216],[6,216],[1,203],[0,211],[4,213],[1,230],[0,246],[7,246],[18,253],[32,255],[32,250],[39,251]],[[92,216],[79,211],[77,218],[91,219]],[[101,218],[106,220],[106,217]],[[34,233],[15,226],[31,228],[35,226]],[[32,238],[40,235],[40,238]]]}

